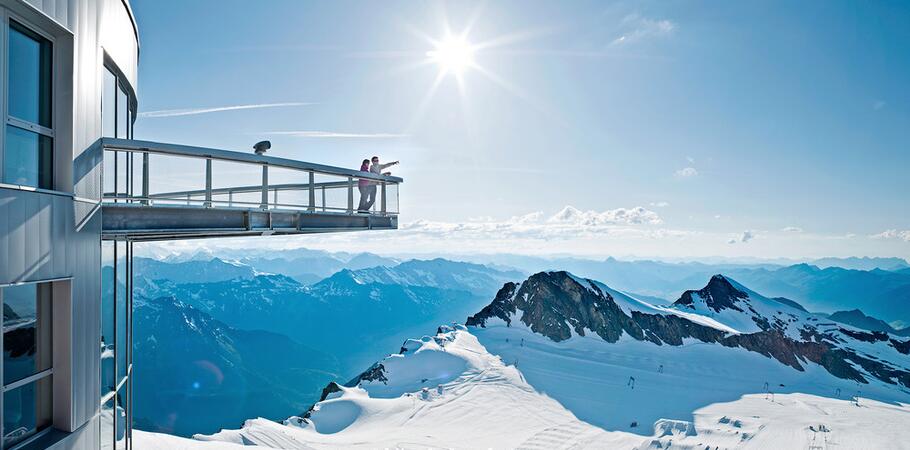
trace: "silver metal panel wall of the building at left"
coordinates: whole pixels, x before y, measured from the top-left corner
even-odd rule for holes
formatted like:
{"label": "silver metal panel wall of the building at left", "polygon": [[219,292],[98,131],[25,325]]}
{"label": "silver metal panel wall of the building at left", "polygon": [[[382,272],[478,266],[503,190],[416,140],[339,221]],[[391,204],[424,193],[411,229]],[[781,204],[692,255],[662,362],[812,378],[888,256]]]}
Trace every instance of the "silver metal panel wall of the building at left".
{"label": "silver metal panel wall of the building at left", "polygon": [[[37,10],[41,25],[57,33],[55,84],[57,167],[55,187],[100,200],[100,158],[80,157],[101,137],[105,52],[135,91],[138,40],[123,0],[0,0],[17,11]],[[49,20],[50,19],[50,20]],[[43,21],[43,22],[42,22]],[[43,26],[43,25],[42,25]],[[65,30],[64,30],[65,29]],[[66,31],[68,30],[68,32]],[[60,34],[62,33],[62,34]],[[71,79],[70,79],[71,78]],[[0,80],[2,81],[2,80]],[[62,114],[62,117],[61,117]],[[76,170],[68,161],[77,161]],[[66,195],[0,188],[0,284],[72,277],[69,383],[72,396],[55,426],[72,431],[60,448],[98,448],[100,411],[101,217],[77,230],[74,199]],[[81,218],[80,218],[81,219]],[[67,361],[66,358],[60,361]],[[56,389],[55,389],[56,390]],[[57,391],[57,392],[65,392]],[[67,418],[68,423],[60,423]]]}

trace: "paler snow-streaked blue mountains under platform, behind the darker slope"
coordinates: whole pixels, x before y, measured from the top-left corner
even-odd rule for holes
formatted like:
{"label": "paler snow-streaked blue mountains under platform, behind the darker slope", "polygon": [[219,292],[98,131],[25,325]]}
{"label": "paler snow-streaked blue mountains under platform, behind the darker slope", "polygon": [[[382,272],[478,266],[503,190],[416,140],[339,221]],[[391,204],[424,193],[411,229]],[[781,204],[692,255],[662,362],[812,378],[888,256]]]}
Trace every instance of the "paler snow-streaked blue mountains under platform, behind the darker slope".
{"label": "paler snow-streaked blue mountains under platform, behind the darker slope", "polygon": [[268,329],[331,349],[349,358],[341,360],[342,371],[356,371],[415,328],[466,316],[516,276],[436,259],[344,269],[311,286],[276,274],[172,283],[139,271],[135,283],[148,298],[174,296],[230,326]]}

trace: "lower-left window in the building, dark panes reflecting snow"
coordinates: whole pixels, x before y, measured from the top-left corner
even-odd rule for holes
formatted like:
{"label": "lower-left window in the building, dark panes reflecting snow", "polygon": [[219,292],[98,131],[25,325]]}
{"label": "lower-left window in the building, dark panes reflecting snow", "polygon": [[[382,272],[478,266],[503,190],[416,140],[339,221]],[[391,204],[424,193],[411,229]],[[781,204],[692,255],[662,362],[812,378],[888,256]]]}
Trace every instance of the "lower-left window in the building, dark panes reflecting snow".
{"label": "lower-left window in the building, dark panes reflecting snow", "polygon": [[3,448],[50,427],[51,284],[5,287],[3,297]]}

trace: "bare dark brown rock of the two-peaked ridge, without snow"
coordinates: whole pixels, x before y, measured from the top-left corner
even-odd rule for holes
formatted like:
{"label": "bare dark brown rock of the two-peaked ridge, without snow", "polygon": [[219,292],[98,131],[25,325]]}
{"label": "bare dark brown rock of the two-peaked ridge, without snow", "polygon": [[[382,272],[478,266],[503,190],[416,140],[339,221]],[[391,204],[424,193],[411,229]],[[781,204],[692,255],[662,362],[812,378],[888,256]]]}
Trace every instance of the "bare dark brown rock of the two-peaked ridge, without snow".
{"label": "bare dark brown rock of the two-peaked ridge, without snow", "polygon": [[[597,283],[567,272],[541,272],[520,284],[506,283],[489,305],[467,319],[466,325],[485,327],[490,320],[499,319],[514,326],[514,321],[518,320],[555,342],[569,339],[573,333],[585,336],[589,332],[608,343],[618,341],[623,333],[655,345],[680,346],[684,339],[692,338],[759,353],[799,371],[805,370],[806,362],[813,362],[839,378],[867,383],[867,377],[871,375],[889,384],[910,386],[910,371],[906,367],[895,367],[848,345],[851,340],[890,345],[907,354],[910,341],[891,339],[886,333],[842,327],[820,329],[811,321],[800,323],[800,336],[796,338],[786,330],[789,321],[796,321],[804,312],[801,308],[793,307],[798,310],[793,313],[778,312],[779,316],[764,317],[750,303],[749,294],[737,289],[722,275],[712,277],[700,290],[686,291],[674,306],[691,308],[695,301],[703,301],[715,312],[742,313],[755,322],[760,331],[732,334],[669,313],[634,309],[626,313]],[[779,303],[781,308],[790,307],[786,302]]]}

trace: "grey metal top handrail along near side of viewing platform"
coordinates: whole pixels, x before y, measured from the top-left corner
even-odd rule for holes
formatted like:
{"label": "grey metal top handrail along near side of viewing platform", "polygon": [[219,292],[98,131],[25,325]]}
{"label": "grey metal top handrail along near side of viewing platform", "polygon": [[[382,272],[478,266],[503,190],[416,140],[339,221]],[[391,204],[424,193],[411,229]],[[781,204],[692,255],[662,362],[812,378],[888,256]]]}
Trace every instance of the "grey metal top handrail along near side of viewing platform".
{"label": "grey metal top handrail along near side of viewing platform", "polygon": [[272,167],[315,172],[323,175],[341,175],[354,178],[365,178],[376,181],[387,181],[400,184],[404,179],[391,175],[379,175],[372,172],[346,169],[343,167],[314,164],[294,159],[279,158],[275,156],[257,155],[215,148],[194,147],[189,145],[167,144],[162,142],[139,141],[134,139],[101,138],[101,146],[105,150],[125,150],[128,152],[141,152],[171,156],[184,156],[197,159],[212,159],[217,161],[241,162]]}

